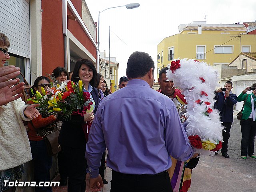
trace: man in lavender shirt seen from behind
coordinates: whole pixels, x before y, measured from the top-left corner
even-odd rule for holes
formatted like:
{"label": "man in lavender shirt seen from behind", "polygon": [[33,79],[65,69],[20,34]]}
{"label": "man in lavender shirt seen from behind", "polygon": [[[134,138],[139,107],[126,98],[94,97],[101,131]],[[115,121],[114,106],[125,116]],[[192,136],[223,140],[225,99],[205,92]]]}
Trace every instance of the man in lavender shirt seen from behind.
{"label": "man in lavender shirt seen from behind", "polygon": [[112,169],[110,192],[170,192],[169,154],[180,161],[197,154],[172,100],[151,89],[152,58],[134,52],[126,75],[127,86],[102,100],[90,129],[85,154],[90,190],[103,187],[99,167],[107,148],[107,166]]}

